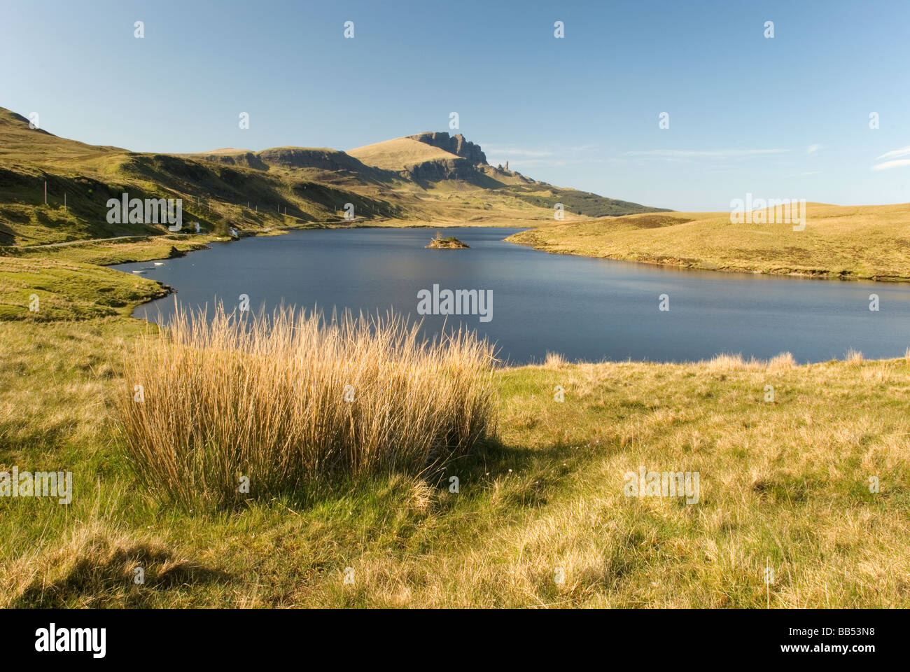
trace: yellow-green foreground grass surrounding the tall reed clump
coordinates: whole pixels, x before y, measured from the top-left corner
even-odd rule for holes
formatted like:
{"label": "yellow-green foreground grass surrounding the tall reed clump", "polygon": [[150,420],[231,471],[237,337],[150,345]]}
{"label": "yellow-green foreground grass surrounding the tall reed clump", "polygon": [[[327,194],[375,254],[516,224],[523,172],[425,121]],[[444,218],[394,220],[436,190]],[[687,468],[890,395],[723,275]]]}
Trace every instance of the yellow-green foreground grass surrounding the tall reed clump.
{"label": "yellow-green foreground grass surrounding the tall reed clump", "polygon": [[[554,358],[496,374],[498,439],[446,473],[204,514],[113,426],[141,329],[0,322],[0,469],[75,480],[0,498],[0,606],[910,606],[908,361]],[[699,502],[624,496],[640,466],[698,471]]]}

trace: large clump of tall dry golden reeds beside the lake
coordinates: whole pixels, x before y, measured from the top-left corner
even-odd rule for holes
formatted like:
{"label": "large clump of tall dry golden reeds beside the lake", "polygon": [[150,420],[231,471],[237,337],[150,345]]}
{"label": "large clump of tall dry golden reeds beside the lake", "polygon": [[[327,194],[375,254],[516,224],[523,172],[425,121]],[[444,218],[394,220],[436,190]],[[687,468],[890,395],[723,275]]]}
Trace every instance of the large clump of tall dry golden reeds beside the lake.
{"label": "large clump of tall dry golden reeds beside the lake", "polygon": [[468,453],[495,432],[492,348],[419,327],[178,308],[126,355],[116,409],[136,472],[159,496],[220,507]]}

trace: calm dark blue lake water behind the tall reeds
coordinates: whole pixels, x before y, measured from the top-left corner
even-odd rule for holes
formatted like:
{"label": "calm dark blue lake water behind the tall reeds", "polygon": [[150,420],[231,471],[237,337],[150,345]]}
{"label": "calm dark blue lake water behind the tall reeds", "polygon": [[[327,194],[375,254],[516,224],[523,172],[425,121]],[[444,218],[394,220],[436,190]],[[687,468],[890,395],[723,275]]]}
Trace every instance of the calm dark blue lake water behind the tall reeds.
{"label": "calm dark blue lake water behind the tall reeds", "polygon": [[[184,305],[248,294],[249,307],[280,303],[352,311],[389,308],[417,317],[418,291],[492,290],[492,319],[451,316],[495,341],[513,363],[547,351],[571,360],[697,361],[719,352],[798,361],[896,357],[910,346],[910,288],[891,283],[799,280],[673,270],[551,255],[502,239],[520,229],[444,229],[467,250],[424,249],[435,229],[302,230],[216,243],[187,257],[114,268],[161,280]],[[869,311],[869,294],[880,311]],[[670,311],[659,311],[661,294]],[[167,321],[174,297],[134,315]],[[442,316],[424,318],[438,332]]]}

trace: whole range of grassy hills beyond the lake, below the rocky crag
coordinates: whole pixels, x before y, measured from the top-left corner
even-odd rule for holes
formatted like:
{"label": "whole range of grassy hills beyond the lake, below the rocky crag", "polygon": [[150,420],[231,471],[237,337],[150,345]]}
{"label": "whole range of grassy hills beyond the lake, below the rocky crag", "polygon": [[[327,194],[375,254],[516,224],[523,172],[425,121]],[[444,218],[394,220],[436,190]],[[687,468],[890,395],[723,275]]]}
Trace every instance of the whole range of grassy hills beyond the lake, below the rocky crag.
{"label": "whole range of grassy hills beyond the lake, below the rocky crag", "polygon": [[[204,233],[213,235],[229,228],[257,233],[345,224],[348,203],[360,224],[446,226],[468,220],[524,227],[552,219],[547,199],[555,188],[474,165],[428,144],[440,141],[433,135],[415,136],[427,142],[402,137],[349,153],[298,147],[137,153],[56,137],[0,108],[0,246],[167,234],[164,225],[109,224],[107,199],[124,192],[138,199],[183,199],[186,225],[198,221]],[[480,148],[466,141],[463,146],[482,157]],[[453,203],[448,198],[452,192],[468,196]],[[566,193],[560,198],[571,218],[579,217],[571,213],[644,209],[593,194]]]}

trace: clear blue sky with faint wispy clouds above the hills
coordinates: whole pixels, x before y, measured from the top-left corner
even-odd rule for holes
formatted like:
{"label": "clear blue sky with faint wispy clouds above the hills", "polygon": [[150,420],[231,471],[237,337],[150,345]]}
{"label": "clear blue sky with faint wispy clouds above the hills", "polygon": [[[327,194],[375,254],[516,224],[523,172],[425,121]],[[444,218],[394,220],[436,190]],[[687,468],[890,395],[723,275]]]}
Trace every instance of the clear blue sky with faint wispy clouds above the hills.
{"label": "clear blue sky with faint wispy clouds above the hills", "polygon": [[910,2],[3,0],[0,106],[167,152],[349,149],[454,111],[491,162],[611,198],[906,202]]}

